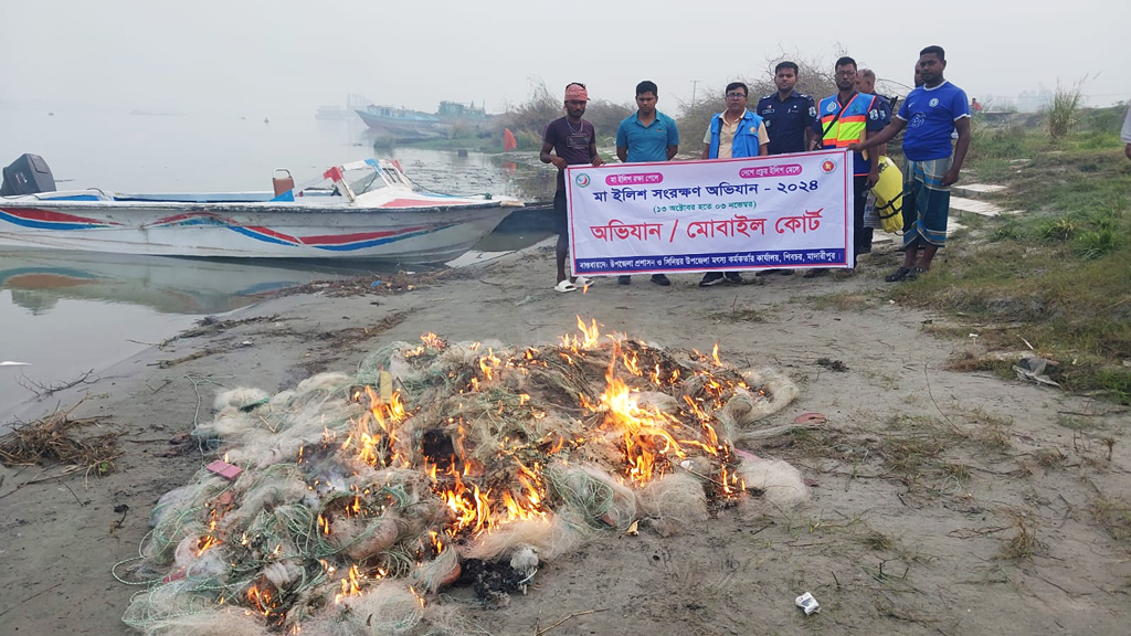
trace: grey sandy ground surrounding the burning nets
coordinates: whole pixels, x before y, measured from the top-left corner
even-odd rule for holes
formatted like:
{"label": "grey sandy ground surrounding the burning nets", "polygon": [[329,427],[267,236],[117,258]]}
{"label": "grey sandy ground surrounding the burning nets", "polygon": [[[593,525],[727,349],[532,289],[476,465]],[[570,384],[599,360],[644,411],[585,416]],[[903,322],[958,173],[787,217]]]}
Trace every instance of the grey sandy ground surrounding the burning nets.
{"label": "grey sandy ground surrounding the burning nets", "polygon": [[[851,278],[699,289],[684,275],[661,289],[638,277],[558,294],[543,249],[400,295],[271,300],[234,317],[278,320],[150,349],[85,387],[75,412],[110,415],[105,427],[123,432],[118,472],[23,487],[61,469],[0,473],[0,634],[129,633],[120,617],[138,590],[111,566],[136,556],[157,498],[200,466],[195,447],[158,454],[210,416],[222,386],[280,390],[428,330],[549,343],[575,330],[576,315],[662,345],[717,341],[724,360],[792,377],[801,396],[771,423],[815,411],[826,428],[748,449],[801,467],[813,497],[795,510],[750,500],[691,535],[604,535],[549,564],[509,608],[468,610],[482,633],[534,634],[601,610],[552,634],[1128,634],[1128,414],[947,370],[968,341],[931,335],[941,317],[869,295],[893,261],[873,255]],[[77,397],[57,394],[25,416]],[[806,591],[819,614],[794,607]]]}

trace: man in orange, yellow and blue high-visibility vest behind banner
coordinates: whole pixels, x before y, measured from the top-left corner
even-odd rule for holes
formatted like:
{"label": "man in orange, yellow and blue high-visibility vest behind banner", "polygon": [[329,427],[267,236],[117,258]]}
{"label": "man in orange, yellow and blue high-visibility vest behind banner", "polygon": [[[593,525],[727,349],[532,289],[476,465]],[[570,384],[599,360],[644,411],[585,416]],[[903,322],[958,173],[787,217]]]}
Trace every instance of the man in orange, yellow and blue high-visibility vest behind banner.
{"label": "man in orange, yellow and blue high-visibility vest behind banner", "polygon": [[[891,113],[875,95],[856,91],[856,60],[840,58],[834,66],[837,94],[830,95],[818,105],[820,120],[813,131],[820,138],[822,148],[847,148],[878,135],[891,120]],[[853,157],[853,268],[861,253],[872,251],[872,230],[864,227],[864,208],[867,207],[867,190],[880,179],[880,164],[873,157],[855,153]],[[827,269],[810,269],[806,278],[827,274]]]}

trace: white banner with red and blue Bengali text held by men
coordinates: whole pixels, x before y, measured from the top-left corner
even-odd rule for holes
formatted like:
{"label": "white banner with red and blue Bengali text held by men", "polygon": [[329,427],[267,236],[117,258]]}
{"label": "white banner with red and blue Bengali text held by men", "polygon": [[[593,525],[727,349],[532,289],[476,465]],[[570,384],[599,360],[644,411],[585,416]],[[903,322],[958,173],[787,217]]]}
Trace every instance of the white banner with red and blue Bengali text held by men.
{"label": "white banner with red and blue Bengali text held by men", "polygon": [[852,166],[844,151],[570,166],[573,273],[851,267]]}

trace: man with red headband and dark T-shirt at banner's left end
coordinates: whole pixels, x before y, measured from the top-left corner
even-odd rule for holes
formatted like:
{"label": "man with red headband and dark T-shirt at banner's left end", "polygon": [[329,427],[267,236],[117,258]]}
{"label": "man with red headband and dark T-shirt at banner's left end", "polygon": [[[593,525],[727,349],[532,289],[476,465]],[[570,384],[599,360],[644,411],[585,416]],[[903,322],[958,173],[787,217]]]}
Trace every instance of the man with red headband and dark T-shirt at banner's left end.
{"label": "man with red headband and dark T-shirt at banner's left end", "polygon": [[[584,84],[572,83],[566,86],[566,117],[555,119],[546,126],[542,139],[542,163],[553,164],[558,169],[558,191],[554,192],[554,230],[558,232],[558,284],[554,290],[572,292],[577,285],[592,284],[585,276],[570,278],[566,275],[566,256],[569,253],[569,214],[566,208],[566,166],[601,165],[604,163],[597,154],[597,131],[593,124],[581,119],[589,94]],[[550,154],[553,152],[554,154]]]}

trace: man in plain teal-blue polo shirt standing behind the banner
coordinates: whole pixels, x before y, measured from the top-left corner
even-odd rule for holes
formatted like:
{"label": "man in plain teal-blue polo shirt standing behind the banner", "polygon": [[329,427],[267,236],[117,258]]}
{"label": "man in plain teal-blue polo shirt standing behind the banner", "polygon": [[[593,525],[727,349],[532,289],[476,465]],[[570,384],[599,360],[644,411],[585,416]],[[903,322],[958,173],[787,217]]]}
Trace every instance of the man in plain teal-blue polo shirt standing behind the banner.
{"label": "man in plain teal-blue polo shirt standing behind the banner", "polygon": [[[637,112],[624,118],[616,127],[616,156],[623,163],[672,161],[680,152],[680,131],[675,120],[656,110],[659,89],[647,79],[637,84]],[[620,276],[622,285],[632,283],[632,276]],[[672,282],[663,274],[653,274],[651,282],[667,286]]]}

